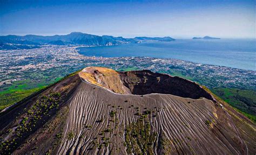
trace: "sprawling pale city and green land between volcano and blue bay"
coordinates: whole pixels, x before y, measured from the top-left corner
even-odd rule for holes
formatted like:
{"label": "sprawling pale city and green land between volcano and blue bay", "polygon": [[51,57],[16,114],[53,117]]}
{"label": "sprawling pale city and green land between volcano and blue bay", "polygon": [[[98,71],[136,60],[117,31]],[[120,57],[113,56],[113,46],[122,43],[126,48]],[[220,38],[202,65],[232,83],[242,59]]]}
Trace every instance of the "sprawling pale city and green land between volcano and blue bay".
{"label": "sprawling pale city and green land between volcano and blue bay", "polygon": [[[250,96],[248,101],[243,102],[242,108],[237,108],[255,115],[255,97],[251,96],[256,90],[254,71],[176,59],[85,57],[76,48],[48,45],[27,50],[0,50],[0,109],[86,66],[104,66],[117,71],[149,69],[180,76],[202,84],[220,96],[224,93],[223,99],[229,102],[232,98],[225,98],[227,91],[236,96],[239,92],[246,93]],[[244,90],[246,92],[242,92]]]}

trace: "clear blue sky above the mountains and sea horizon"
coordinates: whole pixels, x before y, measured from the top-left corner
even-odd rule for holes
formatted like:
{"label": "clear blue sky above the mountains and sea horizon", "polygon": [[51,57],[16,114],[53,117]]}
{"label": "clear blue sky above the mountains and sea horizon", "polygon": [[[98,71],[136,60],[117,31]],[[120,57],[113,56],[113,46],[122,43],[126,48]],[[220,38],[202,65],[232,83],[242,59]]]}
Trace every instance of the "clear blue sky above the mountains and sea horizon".
{"label": "clear blue sky above the mountains and sea horizon", "polygon": [[6,1],[0,35],[255,38],[255,1]]}

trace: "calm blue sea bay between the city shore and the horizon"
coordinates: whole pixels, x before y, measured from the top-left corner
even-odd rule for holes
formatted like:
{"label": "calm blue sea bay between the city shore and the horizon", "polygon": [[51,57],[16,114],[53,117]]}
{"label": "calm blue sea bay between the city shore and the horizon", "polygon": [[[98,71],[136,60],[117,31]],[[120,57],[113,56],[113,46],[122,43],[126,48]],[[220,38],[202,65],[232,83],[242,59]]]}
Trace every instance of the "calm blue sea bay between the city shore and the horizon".
{"label": "calm blue sea bay between the city shore and the horizon", "polygon": [[171,42],[79,47],[78,50],[89,57],[173,58],[255,71],[256,39],[177,39]]}

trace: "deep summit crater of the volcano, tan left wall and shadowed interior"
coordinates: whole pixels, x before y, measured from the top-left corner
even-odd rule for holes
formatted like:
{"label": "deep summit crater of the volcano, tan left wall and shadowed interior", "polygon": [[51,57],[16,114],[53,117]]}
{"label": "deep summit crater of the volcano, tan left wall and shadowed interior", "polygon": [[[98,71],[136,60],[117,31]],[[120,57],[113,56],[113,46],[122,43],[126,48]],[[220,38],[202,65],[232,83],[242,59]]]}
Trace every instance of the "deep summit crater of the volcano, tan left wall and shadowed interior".
{"label": "deep summit crater of the volcano, tan left wall and shadowed interior", "polygon": [[192,81],[149,70],[116,72],[104,67],[87,67],[79,74],[84,80],[119,94],[159,93],[214,100],[212,95]]}

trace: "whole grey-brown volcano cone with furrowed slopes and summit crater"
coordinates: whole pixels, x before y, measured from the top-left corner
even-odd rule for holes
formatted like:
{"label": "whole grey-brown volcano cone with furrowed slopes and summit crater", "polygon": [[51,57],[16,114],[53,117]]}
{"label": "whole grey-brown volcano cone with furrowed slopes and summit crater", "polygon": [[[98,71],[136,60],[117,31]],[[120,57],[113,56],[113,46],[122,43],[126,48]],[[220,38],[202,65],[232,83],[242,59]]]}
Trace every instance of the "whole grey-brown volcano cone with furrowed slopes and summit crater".
{"label": "whole grey-brown volcano cone with furrowed slopes and summit crater", "polygon": [[0,121],[0,154],[256,153],[249,119],[192,81],[146,70],[84,68]]}

